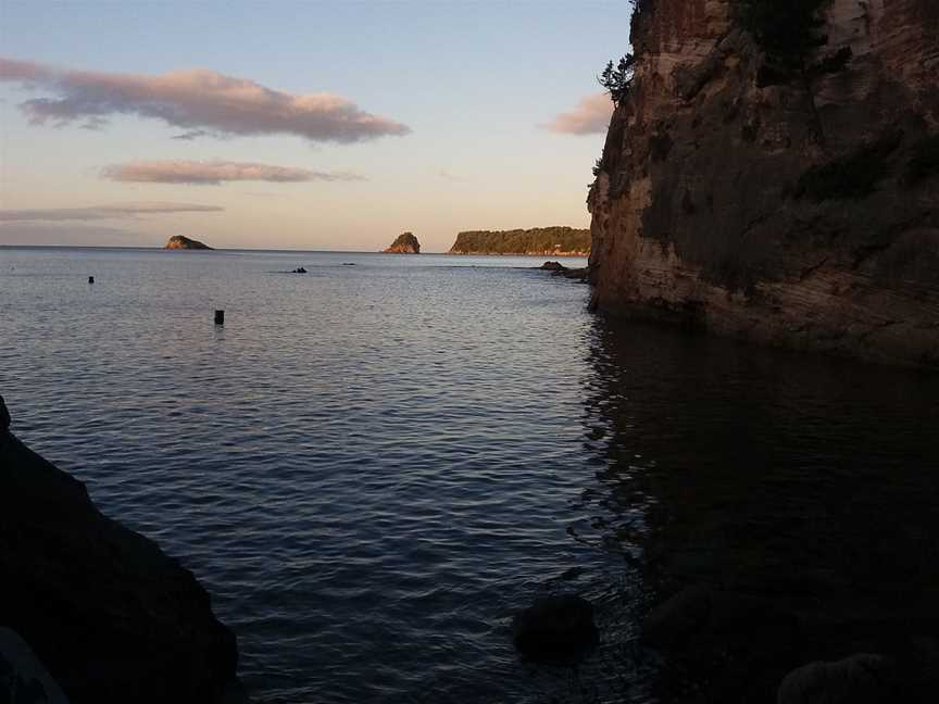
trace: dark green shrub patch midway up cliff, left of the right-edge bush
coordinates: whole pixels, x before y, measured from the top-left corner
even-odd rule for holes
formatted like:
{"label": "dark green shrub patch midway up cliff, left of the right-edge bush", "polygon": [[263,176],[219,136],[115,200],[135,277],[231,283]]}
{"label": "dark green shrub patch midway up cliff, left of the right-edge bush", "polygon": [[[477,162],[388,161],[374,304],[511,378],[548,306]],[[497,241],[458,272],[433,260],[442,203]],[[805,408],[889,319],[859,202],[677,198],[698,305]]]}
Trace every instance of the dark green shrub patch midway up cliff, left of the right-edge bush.
{"label": "dark green shrub patch midway up cliff, left of the right-edge bush", "polygon": [[797,198],[821,203],[831,199],[861,199],[889,172],[888,158],[903,135],[892,133],[856,151],[806,171],[799,178]]}

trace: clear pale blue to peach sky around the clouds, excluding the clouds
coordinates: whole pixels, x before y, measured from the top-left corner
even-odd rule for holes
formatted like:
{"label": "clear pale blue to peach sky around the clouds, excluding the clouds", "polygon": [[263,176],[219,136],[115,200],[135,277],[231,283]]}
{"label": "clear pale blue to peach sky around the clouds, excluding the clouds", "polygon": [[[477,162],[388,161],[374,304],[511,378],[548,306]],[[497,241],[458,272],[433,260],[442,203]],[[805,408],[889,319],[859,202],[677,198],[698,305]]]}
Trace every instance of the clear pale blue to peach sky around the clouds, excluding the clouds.
{"label": "clear pale blue to peach sky around the clouds, excluding the clouds", "polygon": [[[30,125],[18,104],[54,90],[0,81],[0,209],[143,201],[224,209],[5,222],[0,243],[30,232],[51,243],[61,231],[57,243],[112,244],[117,228],[129,246],[185,234],[220,247],[373,250],[406,229],[440,251],[461,229],[585,227],[603,134],[539,125],[600,90],[594,75],[628,50],[628,21],[626,0],[0,0],[3,59],[137,76],[202,68],[285,93],[341,96],[412,130],[341,144],[289,134],[184,141],[172,137],[185,129],[135,114],[109,114],[98,130],[80,122]],[[364,180],[215,186],[101,177],[103,166],[161,160],[251,162]]]}

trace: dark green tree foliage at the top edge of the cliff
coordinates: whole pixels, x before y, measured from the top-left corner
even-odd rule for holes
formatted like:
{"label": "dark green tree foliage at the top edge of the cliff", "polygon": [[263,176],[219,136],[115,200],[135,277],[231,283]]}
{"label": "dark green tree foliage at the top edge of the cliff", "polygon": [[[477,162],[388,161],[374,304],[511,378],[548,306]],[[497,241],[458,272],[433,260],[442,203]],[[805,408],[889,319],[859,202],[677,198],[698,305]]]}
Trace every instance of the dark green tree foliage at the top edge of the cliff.
{"label": "dark green tree foliage at the top edge of the cliff", "polygon": [[784,83],[804,68],[804,59],[828,38],[821,29],[828,0],[737,0],[743,27],[766,53],[761,85]]}

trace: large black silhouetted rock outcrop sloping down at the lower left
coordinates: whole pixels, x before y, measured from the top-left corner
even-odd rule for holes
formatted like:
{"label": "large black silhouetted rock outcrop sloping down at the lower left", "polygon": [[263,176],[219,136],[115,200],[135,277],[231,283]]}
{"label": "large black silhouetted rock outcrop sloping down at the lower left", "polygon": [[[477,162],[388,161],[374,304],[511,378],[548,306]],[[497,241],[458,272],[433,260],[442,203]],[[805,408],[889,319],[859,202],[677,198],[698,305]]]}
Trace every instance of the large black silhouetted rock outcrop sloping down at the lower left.
{"label": "large black silhouetted rock outcrop sloping down at the lower left", "polygon": [[103,516],[0,407],[0,627],[72,704],[238,701],[235,636],[192,574]]}

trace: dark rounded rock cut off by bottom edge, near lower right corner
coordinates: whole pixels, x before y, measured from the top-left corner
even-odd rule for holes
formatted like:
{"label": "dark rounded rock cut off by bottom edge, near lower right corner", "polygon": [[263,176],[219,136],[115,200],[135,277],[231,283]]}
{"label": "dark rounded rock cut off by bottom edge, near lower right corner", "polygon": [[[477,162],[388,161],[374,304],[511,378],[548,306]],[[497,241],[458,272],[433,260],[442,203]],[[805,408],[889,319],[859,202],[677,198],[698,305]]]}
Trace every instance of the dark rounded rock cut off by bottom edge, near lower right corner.
{"label": "dark rounded rock cut off by bottom edge, near lower right corner", "polygon": [[786,676],[779,684],[776,702],[777,704],[897,702],[900,700],[890,686],[892,679],[890,669],[884,657],[866,653],[859,653],[835,663],[810,663]]}

